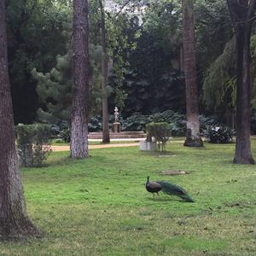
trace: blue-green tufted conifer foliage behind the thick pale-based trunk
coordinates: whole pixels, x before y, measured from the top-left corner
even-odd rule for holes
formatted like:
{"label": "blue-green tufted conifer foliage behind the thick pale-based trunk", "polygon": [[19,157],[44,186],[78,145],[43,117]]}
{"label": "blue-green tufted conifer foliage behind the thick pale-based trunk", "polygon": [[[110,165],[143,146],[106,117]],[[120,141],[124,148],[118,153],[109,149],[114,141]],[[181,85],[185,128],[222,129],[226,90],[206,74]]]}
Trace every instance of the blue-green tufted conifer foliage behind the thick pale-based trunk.
{"label": "blue-green tufted conifer foliage behind the thick pale-based trunk", "polygon": [[[32,77],[37,80],[37,92],[44,103],[44,110],[38,109],[38,119],[46,123],[59,124],[70,121],[73,100],[73,79],[71,72],[71,51],[67,55],[57,55],[56,66],[49,73],[38,73],[32,69]],[[90,114],[101,109],[102,95],[109,95],[112,88],[101,89],[102,48],[90,44]]]}

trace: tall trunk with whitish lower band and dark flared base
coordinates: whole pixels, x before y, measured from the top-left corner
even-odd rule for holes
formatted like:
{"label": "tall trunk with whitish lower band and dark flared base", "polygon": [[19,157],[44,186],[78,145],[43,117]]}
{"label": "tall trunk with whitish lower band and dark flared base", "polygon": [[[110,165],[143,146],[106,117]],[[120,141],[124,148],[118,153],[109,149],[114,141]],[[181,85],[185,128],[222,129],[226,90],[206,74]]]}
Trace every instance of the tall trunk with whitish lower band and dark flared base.
{"label": "tall trunk with whitish lower band and dark flared base", "polygon": [[203,146],[199,130],[199,103],[195,66],[194,9],[191,0],[183,0],[183,56],[186,82],[187,132],[184,146]]}

